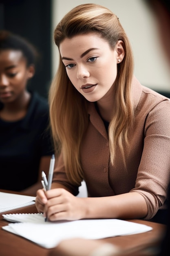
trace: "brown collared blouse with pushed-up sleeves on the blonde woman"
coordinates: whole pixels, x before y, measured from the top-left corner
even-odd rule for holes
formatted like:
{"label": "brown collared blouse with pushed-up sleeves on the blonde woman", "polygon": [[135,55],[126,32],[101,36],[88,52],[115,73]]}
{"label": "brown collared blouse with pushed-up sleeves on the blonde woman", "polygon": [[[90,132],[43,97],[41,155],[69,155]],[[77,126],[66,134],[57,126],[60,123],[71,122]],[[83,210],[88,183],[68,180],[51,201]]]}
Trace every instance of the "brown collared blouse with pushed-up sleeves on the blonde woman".
{"label": "brown collared blouse with pushed-up sleeves on the blonde woman", "polygon": [[[132,95],[135,121],[130,131],[130,152],[125,148],[126,168],[119,149],[115,166],[110,164],[108,134],[91,102],[81,163],[89,197],[138,192],[148,205],[145,220],[149,220],[164,204],[170,179],[170,99],[142,86],[135,77]],[[78,193],[78,187],[66,177],[62,155],[53,182],[64,184],[74,195]]]}

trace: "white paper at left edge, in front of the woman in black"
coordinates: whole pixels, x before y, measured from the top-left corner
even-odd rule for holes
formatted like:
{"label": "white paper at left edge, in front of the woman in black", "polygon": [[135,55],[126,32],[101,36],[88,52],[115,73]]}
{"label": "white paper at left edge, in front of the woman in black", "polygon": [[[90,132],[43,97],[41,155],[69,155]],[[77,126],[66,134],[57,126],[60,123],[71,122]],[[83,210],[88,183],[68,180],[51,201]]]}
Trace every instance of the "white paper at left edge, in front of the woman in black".
{"label": "white paper at left edge, in front of the woman in black", "polygon": [[0,192],[0,213],[35,204],[34,196]]}

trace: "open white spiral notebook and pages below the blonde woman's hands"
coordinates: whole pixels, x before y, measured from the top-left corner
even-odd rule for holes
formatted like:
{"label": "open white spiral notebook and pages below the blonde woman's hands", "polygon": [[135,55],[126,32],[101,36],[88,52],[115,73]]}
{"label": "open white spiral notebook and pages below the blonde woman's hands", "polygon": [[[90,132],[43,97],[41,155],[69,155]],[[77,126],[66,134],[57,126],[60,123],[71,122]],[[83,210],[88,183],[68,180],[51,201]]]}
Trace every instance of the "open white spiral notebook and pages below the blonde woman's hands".
{"label": "open white spiral notebook and pages below the blonde woman's hands", "polygon": [[69,238],[100,239],[144,233],[152,230],[147,225],[118,219],[86,219],[45,222],[42,213],[3,214],[10,222],[2,229],[22,236],[44,248],[53,248]]}

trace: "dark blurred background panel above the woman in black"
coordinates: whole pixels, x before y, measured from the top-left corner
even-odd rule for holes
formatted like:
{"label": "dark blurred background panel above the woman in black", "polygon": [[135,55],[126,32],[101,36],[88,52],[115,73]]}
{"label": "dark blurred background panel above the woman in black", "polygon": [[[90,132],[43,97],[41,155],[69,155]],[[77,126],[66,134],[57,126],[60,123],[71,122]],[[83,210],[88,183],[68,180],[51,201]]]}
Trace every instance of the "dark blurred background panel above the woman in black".
{"label": "dark blurred background panel above the woman in black", "polygon": [[51,0],[0,0],[0,29],[23,36],[40,54],[29,88],[48,97],[51,82]]}

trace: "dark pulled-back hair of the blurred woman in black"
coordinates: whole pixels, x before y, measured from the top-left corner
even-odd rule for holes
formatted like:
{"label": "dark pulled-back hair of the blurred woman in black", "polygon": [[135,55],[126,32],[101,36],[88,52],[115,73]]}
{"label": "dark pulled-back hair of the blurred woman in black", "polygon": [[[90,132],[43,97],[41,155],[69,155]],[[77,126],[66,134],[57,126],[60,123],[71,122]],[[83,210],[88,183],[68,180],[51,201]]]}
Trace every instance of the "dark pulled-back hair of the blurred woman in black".
{"label": "dark pulled-back hair of the blurred woman in black", "polygon": [[0,30],[0,51],[8,49],[21,51],[23,57],[26,59],[27,67],[36,65],[38,61],[38,51],[29,41],[10,31]]}

